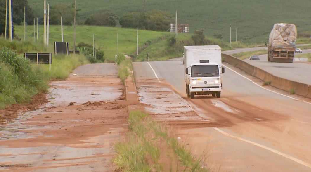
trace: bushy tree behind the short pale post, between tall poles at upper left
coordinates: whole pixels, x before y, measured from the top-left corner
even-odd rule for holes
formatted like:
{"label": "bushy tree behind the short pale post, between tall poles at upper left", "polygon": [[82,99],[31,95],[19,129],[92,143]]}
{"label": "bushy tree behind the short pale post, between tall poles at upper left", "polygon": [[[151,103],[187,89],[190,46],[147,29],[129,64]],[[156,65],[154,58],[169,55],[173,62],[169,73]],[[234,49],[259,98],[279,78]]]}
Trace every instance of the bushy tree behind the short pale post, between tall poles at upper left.
{"label": "bushy tree behind the short pale post, between tall poles at upper left", "polygon": [[[58,3],[50,7],[50,24],[60,25],[61,16],[63,16],[63,25],[71,26],[74,20],[74,4],[67,5],[65,3]],[[77,15],[77,14],[76,14]]]}

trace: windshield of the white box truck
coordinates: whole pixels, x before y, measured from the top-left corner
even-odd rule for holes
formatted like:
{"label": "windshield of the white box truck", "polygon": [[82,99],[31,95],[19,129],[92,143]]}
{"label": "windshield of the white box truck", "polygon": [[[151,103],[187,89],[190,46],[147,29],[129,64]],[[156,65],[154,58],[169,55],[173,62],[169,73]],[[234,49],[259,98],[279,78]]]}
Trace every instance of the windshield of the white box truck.
{"label": "windshield of the white box truck", "polygon": [[191,68],[191,77],[219,77],[217,65],[196,65]]}

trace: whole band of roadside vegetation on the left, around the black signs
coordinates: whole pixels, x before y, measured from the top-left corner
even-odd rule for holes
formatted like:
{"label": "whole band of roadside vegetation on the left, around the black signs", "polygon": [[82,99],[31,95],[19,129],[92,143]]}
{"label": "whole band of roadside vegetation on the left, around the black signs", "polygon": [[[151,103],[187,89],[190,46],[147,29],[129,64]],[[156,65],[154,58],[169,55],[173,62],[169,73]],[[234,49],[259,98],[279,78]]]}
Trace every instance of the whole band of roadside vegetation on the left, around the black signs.
{"label": "whole band of roadside vegetation on the left, around the black signs", "polygon": [[[89,63],[84,55],[56,55],[52,57],[50,70],[49,65],[32,64],[12,50],[18,47],[17,50],[31,51],[35,44],[9,42],[2,38],[0,42],[0,109],[11,104],[29,103],[32,96],[48,91],[49,81],[66,79],[74,68]],[[40,47],[37,46],[37,51],[45,50]]]}

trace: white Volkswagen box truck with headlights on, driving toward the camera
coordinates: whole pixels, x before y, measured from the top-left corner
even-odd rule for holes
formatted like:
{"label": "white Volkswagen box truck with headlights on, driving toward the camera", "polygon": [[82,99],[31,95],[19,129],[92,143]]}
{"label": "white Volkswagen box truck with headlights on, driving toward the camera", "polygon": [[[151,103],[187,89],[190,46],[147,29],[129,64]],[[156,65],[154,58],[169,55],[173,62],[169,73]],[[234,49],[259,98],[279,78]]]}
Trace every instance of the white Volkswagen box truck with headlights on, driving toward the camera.
{"label": "white Volkswagen box truck with headlights on, driving toward the camera", "polygon": [[221,48],[218,45],[184,46],[184,66],[187,96],[212,95],[220,98],[225,73],[221,65]]}

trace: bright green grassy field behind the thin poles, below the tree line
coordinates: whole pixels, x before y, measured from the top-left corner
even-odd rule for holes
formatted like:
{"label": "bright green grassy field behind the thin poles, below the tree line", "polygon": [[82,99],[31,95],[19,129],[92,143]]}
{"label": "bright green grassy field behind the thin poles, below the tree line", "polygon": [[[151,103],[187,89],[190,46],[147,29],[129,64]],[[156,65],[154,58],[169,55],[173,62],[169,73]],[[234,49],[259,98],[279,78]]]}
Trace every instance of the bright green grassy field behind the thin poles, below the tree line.
{"label": "bright green grassy field behind the thin poles, below the tree line", "polygon": [[[24,26],[15,26],[15,32],[19,38],[24,39]],[[26,40],[33,41],[34,27],[26,27]],[[35,28],[36,32],[36,28]],[[44,35],[43,25],[39,25],[39,41],[43,42]],[[93,33],[95,34],[95,44],[97,48],[104,51],[104,57],[107,60],[114,60],[117,54],[117,37],[118,37],[118,54],[125,53],[132,55],[137,50],[136,29],[123,29],[100,26],[77,26],[76,27],[76,45],[84,42],[93,45]],[[69,43],[69,49],[73,48],[73,26],[64,26],[64,42]],[[170,34],[169,32],[156,31],[138,31],[139,46],[144,45],[148,40],[153,41],[159,37]],[[35,40],[37,36],[35,35]],[[61,26],[49,27],[49,51],[53,51],[53,42],[61,42]]]}

